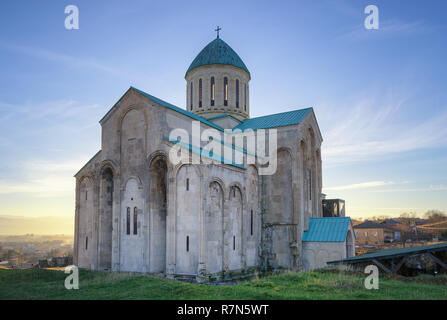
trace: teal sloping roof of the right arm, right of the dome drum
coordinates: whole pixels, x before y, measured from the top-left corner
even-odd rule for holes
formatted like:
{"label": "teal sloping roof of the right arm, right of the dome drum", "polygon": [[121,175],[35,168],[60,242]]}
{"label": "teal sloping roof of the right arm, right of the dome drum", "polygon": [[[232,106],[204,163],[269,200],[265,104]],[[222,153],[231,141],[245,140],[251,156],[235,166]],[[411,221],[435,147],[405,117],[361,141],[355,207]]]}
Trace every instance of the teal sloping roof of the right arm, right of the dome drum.
{"label": "teal sloping roof of the right arm, right of the dome drum", "polygon": [[257,118],[246,119],[241,124],[237,125],[234,129],[267,129],[275,127],[284,127],[293,124],[298,124],[308,115],[312,108],[282,112],[271,114],[268,116],[262,116]]}

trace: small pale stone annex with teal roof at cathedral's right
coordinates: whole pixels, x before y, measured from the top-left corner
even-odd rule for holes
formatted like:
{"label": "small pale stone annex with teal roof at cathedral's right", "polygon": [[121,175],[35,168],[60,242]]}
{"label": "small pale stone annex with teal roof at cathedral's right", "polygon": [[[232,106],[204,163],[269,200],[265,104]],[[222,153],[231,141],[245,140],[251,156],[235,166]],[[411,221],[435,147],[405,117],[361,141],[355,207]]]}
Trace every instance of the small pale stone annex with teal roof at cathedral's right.
{"label": "small pale stone annex with teal roof at cathedral's right", "polygon": [[302,241],[305,270],[324,268],[328,261],[355,256],[355,235],[349,217],[310,218]]}

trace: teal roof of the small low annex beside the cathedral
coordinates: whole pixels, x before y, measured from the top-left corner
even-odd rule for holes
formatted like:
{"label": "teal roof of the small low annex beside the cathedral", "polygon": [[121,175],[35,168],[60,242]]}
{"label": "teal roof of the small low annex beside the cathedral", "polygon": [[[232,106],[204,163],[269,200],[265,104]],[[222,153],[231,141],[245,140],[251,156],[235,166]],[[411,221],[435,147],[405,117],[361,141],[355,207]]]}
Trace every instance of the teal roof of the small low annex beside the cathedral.
{"label": "teal roof of the small low annex beside the cathedral", "polygon": [[309,218],[309,230],[303,232],[302,241],[343,242],[348,234],[351,218]]}

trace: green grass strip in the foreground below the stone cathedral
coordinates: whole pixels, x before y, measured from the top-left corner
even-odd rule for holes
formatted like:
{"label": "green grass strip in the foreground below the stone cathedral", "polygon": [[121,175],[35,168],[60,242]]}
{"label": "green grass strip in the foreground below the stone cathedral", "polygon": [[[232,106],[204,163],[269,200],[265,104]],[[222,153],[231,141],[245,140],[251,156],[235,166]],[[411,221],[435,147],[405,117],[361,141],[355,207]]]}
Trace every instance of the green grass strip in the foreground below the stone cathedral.
{"label": "green grass strip in the foreground below the stone cathedral", "polygon": [[0,270],[0,299],[447,299],[447,277],[381,277],[366,290],[363,274],[285,273],[234,285],[204,285],[155,276],[79,271],[79,290],[67,290],[67,275],[53,270]]}

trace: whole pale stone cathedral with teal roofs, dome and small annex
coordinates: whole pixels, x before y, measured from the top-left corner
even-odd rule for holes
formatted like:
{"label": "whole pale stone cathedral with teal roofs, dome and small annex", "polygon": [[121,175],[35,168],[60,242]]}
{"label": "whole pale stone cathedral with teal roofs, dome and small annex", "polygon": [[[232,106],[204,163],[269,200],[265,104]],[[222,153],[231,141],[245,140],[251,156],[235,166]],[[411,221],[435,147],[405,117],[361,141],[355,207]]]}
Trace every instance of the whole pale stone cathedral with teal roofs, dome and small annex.
{"label": "whole pale stone cathedral with teal roofs, dome and small annex", "polygon": [[[186,71],[185,108],[134,87],[124,93],[99,121],[101,150],[75,175],[75,265],[206,282],[354,254],[350,219],[323,217],[313,109],[250,118],[250,79],[217,35]],[[233,140],[209,138],[240,150],[240,163],[203,153],[207,130],[275,132],[274,171],[262,173]],[[186,160],[173,162],[178,152]]]}

